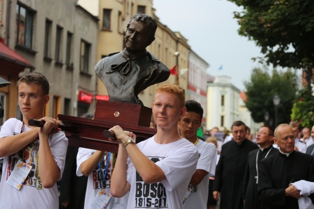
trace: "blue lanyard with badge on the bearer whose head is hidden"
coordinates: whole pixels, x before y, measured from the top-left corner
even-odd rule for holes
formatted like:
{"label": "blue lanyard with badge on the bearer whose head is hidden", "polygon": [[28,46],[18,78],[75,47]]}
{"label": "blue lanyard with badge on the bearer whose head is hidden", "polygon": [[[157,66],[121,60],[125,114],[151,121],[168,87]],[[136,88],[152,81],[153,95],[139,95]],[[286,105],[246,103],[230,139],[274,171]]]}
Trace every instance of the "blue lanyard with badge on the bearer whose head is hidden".
{"label": "blue lanyard with badge on the bearer whose head is hidden", "polygon": [[[100,176],[101,176],[102,185],[105,185],[105,179],[106,179],[106,175],[107,175],[107,170],[108,170],[108,165],[110,162],[111,154],[112,153],[109,152],[108,159],[107,159],[107,161],[105,161],[106,167],[105,167],[104,175],[102,172],[101,164],[100,164],[100,162],[98,163],[98,168],[99,168],[99,172],[100,172]],[[107,191],[105,191],[104,188],[101,188],[97,192],[90,209],[104,209],[104,208],[106,208],[106,206],[110,200],[110,197],[111,197],[110,192],[107,192]]]}

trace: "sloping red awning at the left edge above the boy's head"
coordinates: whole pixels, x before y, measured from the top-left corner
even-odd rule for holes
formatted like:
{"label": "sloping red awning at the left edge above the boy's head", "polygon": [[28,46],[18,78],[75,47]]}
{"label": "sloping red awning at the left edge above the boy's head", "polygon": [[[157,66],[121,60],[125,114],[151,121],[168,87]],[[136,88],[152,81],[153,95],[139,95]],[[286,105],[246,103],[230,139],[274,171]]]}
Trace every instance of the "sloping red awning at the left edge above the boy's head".
{"label": "sloping red awning at the left edge above the boy's head", "polygon": [[21,55],[16,53],[14,50],[6,46],[0,41],[0,60],[10,62],[12,64],[17,64],[19,66],[34,69],[34,67]]}

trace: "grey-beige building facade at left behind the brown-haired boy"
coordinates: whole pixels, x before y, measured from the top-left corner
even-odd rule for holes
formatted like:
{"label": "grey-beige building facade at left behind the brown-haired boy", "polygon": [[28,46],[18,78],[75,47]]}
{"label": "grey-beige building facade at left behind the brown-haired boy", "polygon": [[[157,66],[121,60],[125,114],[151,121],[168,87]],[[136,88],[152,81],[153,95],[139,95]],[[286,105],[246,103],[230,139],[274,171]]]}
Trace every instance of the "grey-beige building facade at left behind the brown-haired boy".
{"label": "grey-beige building facade at left behind the brown-haired boy", "polygon": [[[18,78],[29,71],[41,72],[51,85],[46,116],[93,112],[98,18],[77,0],[0,0],[0,8],[0,38],[33,67],[24,68],[14,78],[6,76],[14,80],[8,88],[16,89]],[[14,107],[17,99],[11,99],[17,98],[17,93],[2,88],[0,92],[10,98],[5,102],[4,119],[21,117],[19,108]]]}

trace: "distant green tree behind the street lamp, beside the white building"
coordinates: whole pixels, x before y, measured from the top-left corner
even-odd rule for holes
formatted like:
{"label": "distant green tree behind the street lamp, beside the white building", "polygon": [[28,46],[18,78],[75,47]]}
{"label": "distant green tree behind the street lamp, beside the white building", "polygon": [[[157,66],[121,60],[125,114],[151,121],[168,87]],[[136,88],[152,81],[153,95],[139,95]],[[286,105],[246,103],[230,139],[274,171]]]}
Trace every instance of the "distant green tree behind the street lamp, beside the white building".
{"label": "distant green tree behind the street lamp, beside the white building", "polygon": [[251,78],[244,82],[246,88],[246,107],[251,112],[255,122],[264,122],[264,114],[269,113],[269,120],[275,121],[274,95],[279,95],[278,124],[288,123],[293,102],[297,92],[298,76],[294,71],[272,70],[255,68]]}

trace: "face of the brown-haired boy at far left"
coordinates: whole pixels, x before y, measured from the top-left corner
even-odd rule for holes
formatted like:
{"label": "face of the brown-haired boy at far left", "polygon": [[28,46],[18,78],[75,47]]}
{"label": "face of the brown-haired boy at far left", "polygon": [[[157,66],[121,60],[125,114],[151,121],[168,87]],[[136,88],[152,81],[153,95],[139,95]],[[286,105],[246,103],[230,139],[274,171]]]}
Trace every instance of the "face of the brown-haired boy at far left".
{"label": "face of the brown-haired boy at far left", "polygon": [[43,117],[44,106],[49,101],[49,95],[44,95],[41,85],[21,82],[18,91],[23,120]]}

